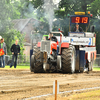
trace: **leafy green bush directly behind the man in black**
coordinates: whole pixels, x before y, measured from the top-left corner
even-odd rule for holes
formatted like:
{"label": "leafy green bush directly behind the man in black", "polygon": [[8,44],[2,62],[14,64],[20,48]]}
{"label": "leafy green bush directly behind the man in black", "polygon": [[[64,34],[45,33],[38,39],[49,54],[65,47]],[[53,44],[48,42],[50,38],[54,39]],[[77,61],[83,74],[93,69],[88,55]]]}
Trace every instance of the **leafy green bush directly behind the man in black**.
{"label": "leafy green bush directly behind the man in black", "polygon": [[12,44],[15,43],[15,40],[18,39],[19,40],[19,45],[20,45],[20,55],[23,55],[23,51],[24,51],[24,38],[25,35],[21,34],[19,31],[11,29],[9,30],[7,33],[1,35],[4,39],[5,39],[5,43],[7,45],[7,52],[8,54],[11,54],[10,48],[12,46]]}

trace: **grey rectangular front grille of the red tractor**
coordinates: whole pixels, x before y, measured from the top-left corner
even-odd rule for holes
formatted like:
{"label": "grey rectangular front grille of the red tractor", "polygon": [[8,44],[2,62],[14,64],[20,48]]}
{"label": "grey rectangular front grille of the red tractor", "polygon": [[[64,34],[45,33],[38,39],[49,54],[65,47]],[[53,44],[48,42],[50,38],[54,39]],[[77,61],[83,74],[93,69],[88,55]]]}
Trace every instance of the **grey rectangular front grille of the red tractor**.
{"label": "grey rectangular front grille of the red tractor", "polygon": [[50,44],[50,41],[41,41],[40,51],[50,53]]}

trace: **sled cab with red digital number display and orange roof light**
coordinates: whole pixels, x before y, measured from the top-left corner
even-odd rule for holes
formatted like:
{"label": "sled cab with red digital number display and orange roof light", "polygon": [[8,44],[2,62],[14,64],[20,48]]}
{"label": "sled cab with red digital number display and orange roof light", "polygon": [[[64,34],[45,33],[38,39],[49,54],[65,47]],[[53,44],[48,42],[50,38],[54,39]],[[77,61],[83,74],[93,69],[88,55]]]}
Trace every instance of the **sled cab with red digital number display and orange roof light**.
{"label": "sled cab with red digital number display and orange roof light", "polygon": [[[75,12],[75,15],[71,15],[70,17],[70,25],[69,25],[69,33],[70,37],[86,37],[88,32],[88,28],[90,25],[90,18],[92,14],[88,12],[88,15],[85,15],[85,12]],[[74,26],[74,28],[72,28]],[[85,29],[83,29],[83,26]],[[90,32],[89,32],[90,36]]]}

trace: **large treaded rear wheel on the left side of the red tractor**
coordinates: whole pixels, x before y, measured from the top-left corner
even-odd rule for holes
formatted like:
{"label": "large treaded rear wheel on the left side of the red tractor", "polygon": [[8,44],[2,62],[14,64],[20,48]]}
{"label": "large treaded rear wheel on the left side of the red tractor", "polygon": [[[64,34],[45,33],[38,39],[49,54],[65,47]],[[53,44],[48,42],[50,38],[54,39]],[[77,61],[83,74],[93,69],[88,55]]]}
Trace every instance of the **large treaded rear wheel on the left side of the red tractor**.
{"label": "large treaded rear wheel on the left side of the red tractor", "polygon": [[40,61],[40,58],[41,58],[40,48],[35,46],[33,50],[33,55],[34,55],[34,60],[32,56],[30,69],[32,72],[34,71],[34,73],[42,73],[43,72],[43,62]]}

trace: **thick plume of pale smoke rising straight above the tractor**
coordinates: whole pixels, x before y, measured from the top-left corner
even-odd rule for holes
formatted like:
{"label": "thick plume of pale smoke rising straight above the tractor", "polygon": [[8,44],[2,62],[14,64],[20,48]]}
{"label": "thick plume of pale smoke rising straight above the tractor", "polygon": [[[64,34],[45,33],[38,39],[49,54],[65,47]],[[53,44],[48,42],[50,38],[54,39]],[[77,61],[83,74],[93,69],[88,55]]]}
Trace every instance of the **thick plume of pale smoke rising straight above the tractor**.
{"label": "thick plume of pale smoke rising straight above the tractor", "polygon": [[54,10],[58,9],[60,0],[44,0],[43,9],[45,11],[45,17],[49,23],[49,30],[52,31],[53,20],[54,20]]}

